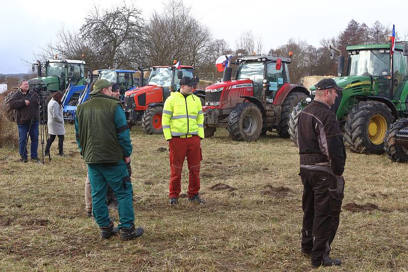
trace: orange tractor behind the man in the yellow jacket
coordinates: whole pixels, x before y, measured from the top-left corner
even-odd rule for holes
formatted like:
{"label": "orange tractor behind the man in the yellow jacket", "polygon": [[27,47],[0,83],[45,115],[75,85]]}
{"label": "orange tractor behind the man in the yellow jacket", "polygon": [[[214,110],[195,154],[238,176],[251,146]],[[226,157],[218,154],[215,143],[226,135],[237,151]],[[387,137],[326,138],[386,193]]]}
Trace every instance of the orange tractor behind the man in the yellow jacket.
{"label": "orange tractor behind the man in the yellow jacket", "polygon": [[[131,127],[138,121],[142,121],[142,128],[148,134],[161,134],[162,112],[164,101],[180,88],[180,79],[189,76],[198,83],[198,77],[194,77],[192,66],[153,66],[149,69],[147,85],[125,92],[125,112],[127,122]],[[140,82],[143,82],[143,72]],[[205,91],[194,89],[193,93],[204,102]]]}

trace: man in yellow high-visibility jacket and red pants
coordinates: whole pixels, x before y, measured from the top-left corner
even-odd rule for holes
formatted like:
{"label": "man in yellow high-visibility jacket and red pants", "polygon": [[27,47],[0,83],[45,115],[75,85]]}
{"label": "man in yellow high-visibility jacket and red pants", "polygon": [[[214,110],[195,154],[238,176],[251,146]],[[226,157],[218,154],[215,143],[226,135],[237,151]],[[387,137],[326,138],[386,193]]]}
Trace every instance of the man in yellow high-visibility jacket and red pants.
{"label": "man in yellow high-visibility jacket and red pants", "polygon": [[180,79],[180,90],[171,93],[163,108],[162,126],[170,151],[170,204],[177,204],[181,192],[183,162],[187,156],[190,171],[189,201],[202,204],[200,189],[201,139],[204,139],[204,115],[200,99],[192,94],[192,78]]}

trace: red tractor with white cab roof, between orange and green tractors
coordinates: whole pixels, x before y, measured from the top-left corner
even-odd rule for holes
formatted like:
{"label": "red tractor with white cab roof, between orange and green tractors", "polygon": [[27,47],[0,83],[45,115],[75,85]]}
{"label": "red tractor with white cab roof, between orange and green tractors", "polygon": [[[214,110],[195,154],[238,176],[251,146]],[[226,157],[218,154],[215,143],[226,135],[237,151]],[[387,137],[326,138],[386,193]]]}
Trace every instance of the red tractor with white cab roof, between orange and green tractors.
{"label": "red tractor with white cab roof, between orange and green tractors", "polygon": [[255,141],[267,131],[289,138],[289,115],[310,94],[303,86],[289,83],[290,62],[282,57],[238,57],[231,80],[230,61],[223,81],[206,88],[205,137],[214,135],[217,127],[226,127],[236,141]]}

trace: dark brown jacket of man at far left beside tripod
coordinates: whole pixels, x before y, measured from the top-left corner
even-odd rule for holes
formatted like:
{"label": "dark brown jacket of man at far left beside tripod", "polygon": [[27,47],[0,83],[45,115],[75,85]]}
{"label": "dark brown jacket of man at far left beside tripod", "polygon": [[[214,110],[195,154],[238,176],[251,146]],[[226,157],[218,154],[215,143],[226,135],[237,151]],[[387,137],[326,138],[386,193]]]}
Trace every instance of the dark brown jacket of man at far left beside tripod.
{"label": "dark brown jacket of man at far left beside tripod", "polygon": [[[33,91],[28,91],[27,94],[17,91],[10,97],[8,103],[10,108],[15,110],[14,120],[17,122],[17,124],[30,123],[32,119],[33,121],[39,120],[37,98],[38,94]],[[30,104],[26,105],[25,100],[29,100]]]}

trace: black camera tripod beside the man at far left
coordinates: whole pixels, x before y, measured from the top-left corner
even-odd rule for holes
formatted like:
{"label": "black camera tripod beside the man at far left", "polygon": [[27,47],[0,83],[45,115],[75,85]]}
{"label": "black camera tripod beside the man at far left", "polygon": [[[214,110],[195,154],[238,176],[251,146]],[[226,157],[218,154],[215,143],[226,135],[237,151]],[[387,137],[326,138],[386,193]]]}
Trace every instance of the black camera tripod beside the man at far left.
{"label": "black camera tripod beside the man at far left", "polygon": [[[33,98],[33,96],[31,98]],[[31,100],[31,98],[29,99],[29,101]],[[45,114],[46,114],[45,111],[47,109],[45,107],[44,95],[42,94],[41,91],[38,93],[38,98],[37,98],[36,102],[37,102],[37,110],[38,110],[38,120],[40,122],[40,124],[39,124],[39,126],[40,126],[39,127],[39,137],[40,137],[40,141],[41,141],[41,162],[39,161],[39,163],[44,164],[44,140],[46,142],[48,142],[48,126],[47,126],[47,120],[46,120],[46,116],[45,116]],[[31,126],[33,124],[33,119],[34,119],[35,113],[36,113],[36,111],[33,112],[33,116],[31,117],[30,127],[29,127],[29,131],[27,133],[27,140],[25,141],[25,146],[24,146],[24,150],[23,150],[23,156],[24,156],[24,152],[28,152],[27,151],[27,145],[28,145],[28,142],[29,142],[29,134],[30,134]],[[27,153],[26,153],[26,155],[27,155]],[[48,152],[48,161],[51,161],[51,154],[49,152]]]}

